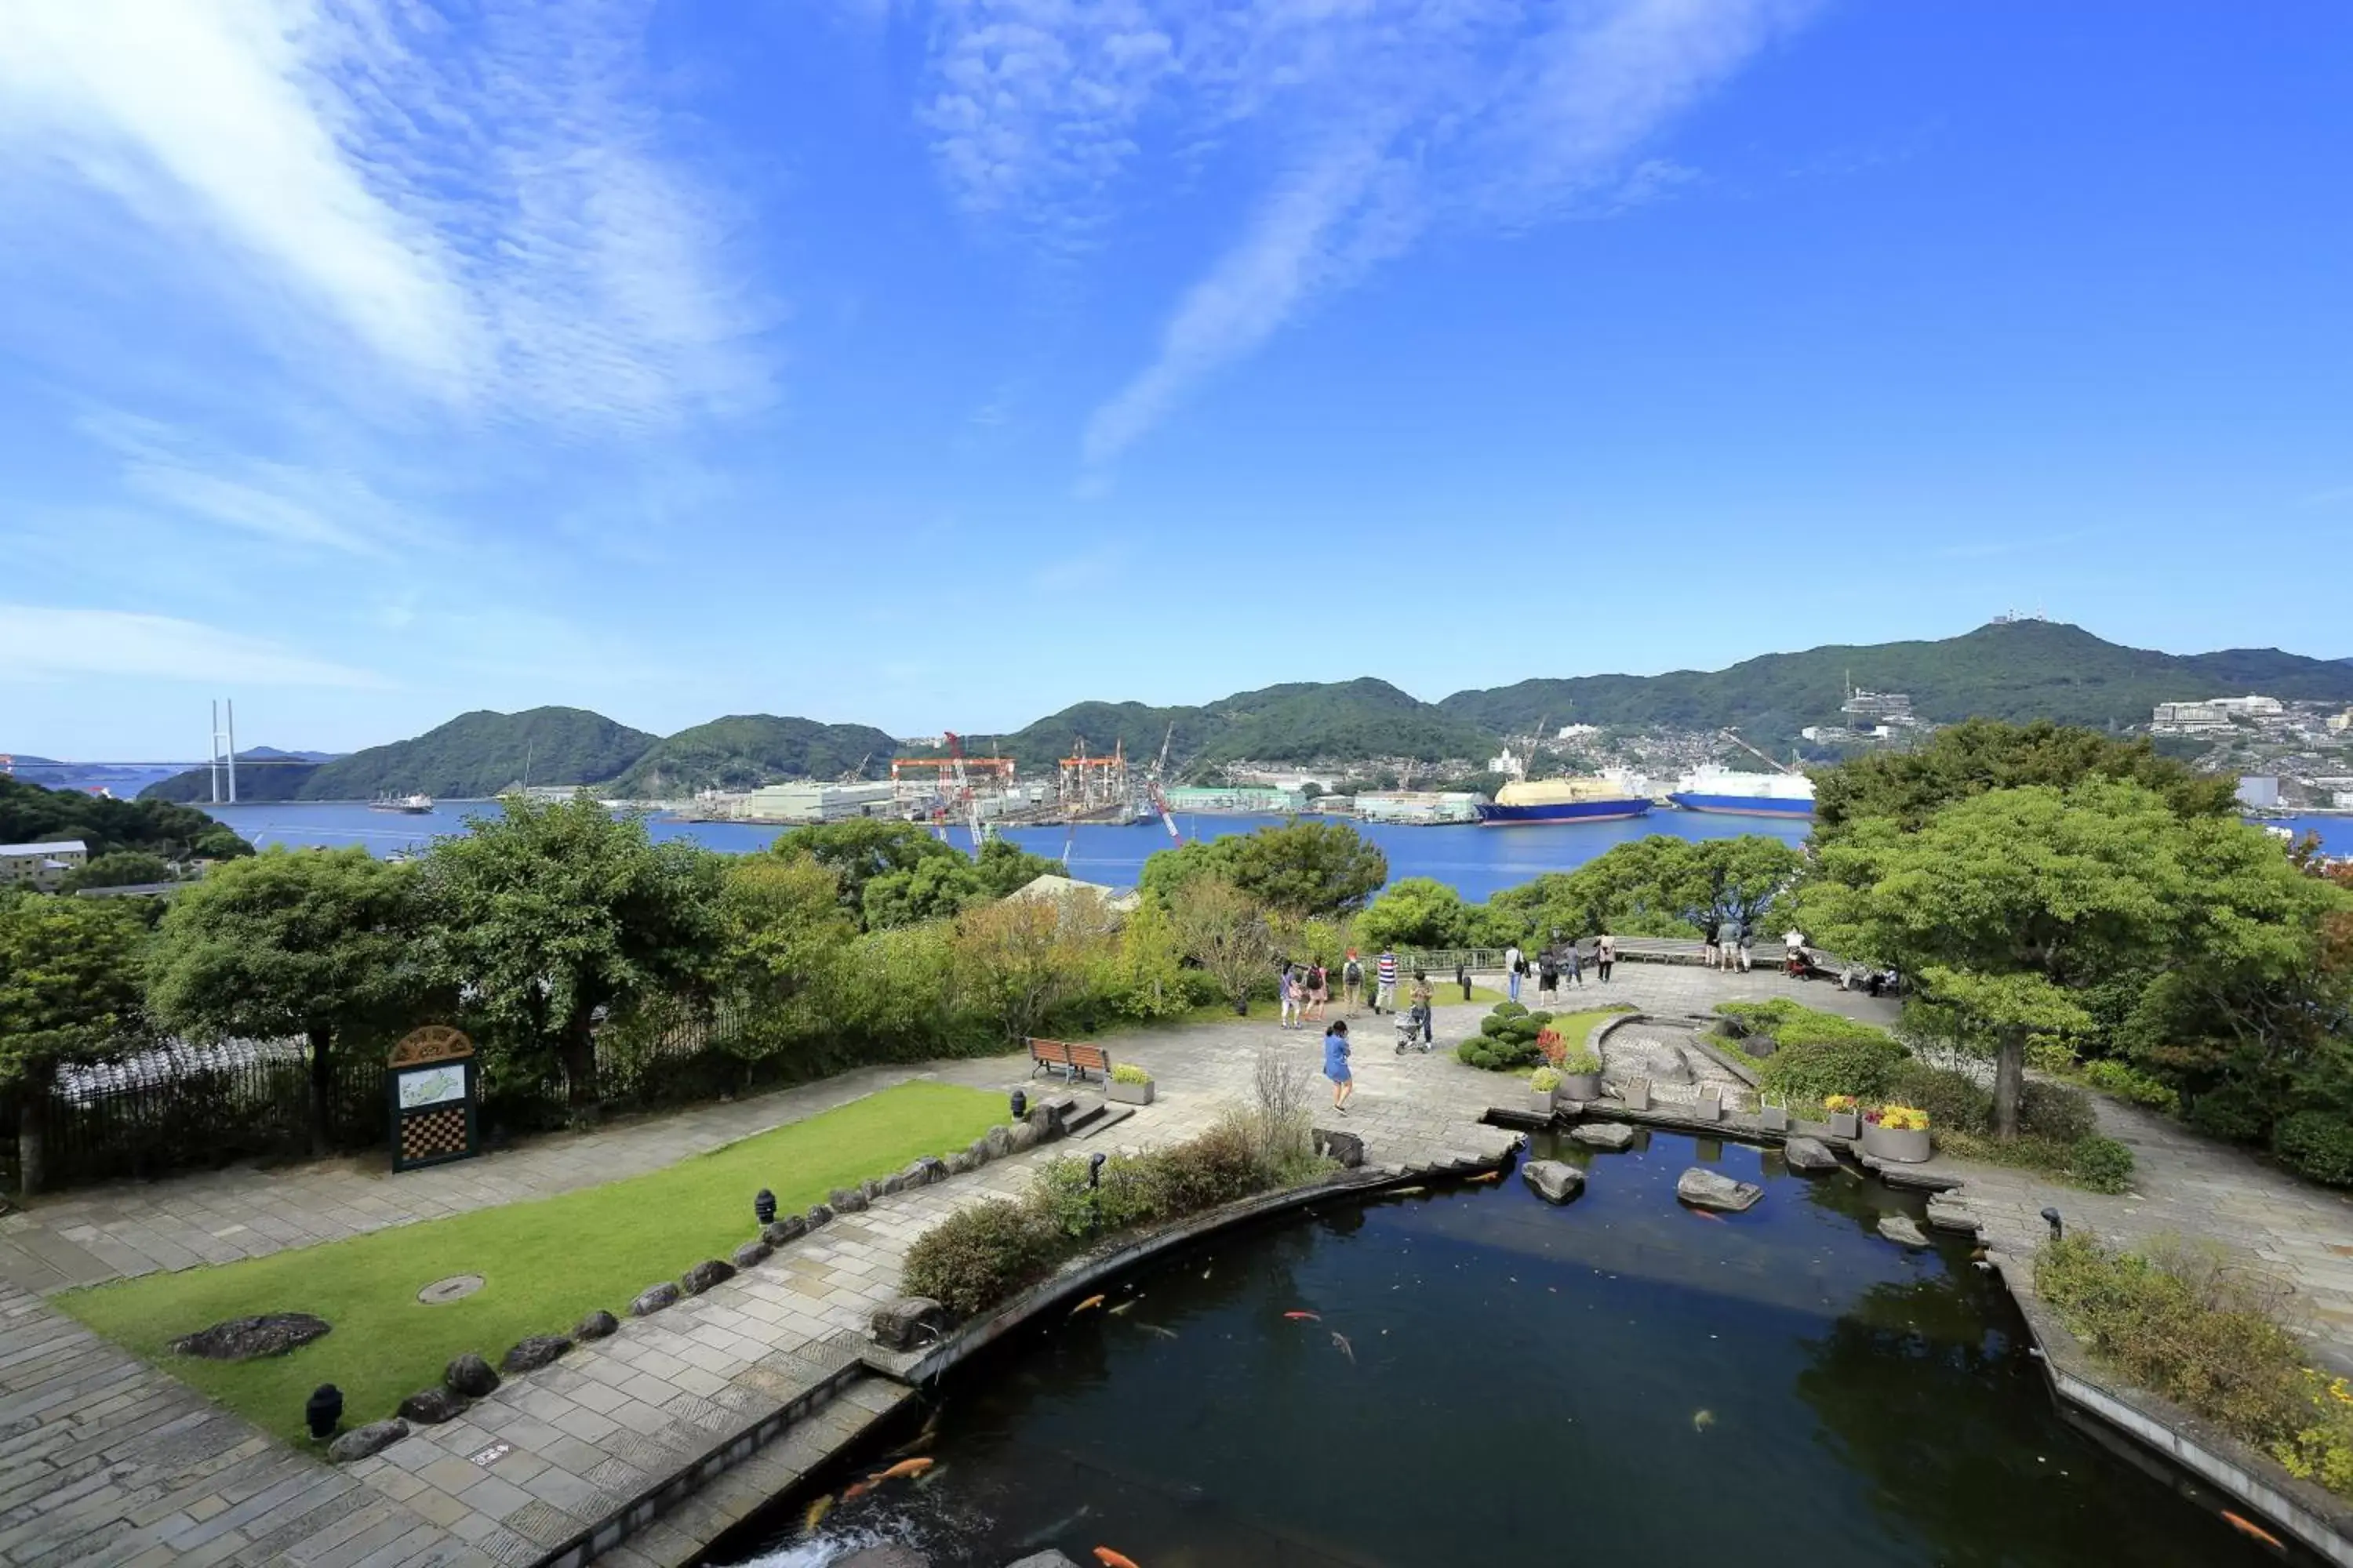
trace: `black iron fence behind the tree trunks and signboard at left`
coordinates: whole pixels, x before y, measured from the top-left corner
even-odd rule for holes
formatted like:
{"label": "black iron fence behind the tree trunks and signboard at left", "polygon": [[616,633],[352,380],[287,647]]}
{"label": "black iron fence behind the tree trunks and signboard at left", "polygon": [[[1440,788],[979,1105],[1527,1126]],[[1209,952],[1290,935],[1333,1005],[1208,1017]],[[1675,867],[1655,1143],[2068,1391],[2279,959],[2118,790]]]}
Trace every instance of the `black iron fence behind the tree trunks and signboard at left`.
{"label": "black iron fence behind the tree trunks and signboard at left", "polygon": [[[598,1030],[600,1110],[708,1100],[755,1074],[727,1051],[736,1009],[664,1009]],[[26,1098],[40,1093],[38,1105]],[[374,1150],[388,1135],[384,1053],[336,1063],[327,1145]],[[33,1114],[26,1117],[26,1110]],[[565,1126],[562,1081],[499,1084],[485,1095],[492,1140]],[[45,1084],[0,1088],[0,1187],[24,1190],[24,1128],[40,1135],[45,1192],[118,1178],[207,1171],[311,1154],[311,1058],[299,1039],[162,1041]]]}

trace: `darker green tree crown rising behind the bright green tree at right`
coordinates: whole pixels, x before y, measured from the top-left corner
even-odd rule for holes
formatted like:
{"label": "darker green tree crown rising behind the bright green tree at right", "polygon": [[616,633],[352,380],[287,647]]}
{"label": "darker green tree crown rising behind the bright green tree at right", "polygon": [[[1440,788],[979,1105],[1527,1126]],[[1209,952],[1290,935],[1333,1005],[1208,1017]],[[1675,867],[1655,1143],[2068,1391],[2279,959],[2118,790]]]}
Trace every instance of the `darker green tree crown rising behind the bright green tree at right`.
{"label": "darker green tree crown rising behind the bright green tree at right", "polygon": [[2089,778],[2155,790],[2184,818],[2235,816],[2235,778],[2193,773],[2184,762],[2160,757],[2146,738],[2115,741],[2049,719],[1969,719],[1937,731],[1918,750],[1871,752],[1817,773],[1814,839],[1828,844],[1871,818],[1922,827],[1941,806],[1972,795],[2026,785],[2066,790]]}

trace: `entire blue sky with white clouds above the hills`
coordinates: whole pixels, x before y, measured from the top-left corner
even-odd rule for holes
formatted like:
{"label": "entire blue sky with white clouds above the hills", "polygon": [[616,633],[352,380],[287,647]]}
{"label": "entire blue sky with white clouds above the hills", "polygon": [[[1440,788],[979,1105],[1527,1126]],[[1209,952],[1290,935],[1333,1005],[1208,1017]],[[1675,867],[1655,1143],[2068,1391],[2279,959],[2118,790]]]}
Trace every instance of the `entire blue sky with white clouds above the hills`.
{"label": "entire blue sky with white clouds above the hills", "polygon": [[26,0],[0,748],[2353,654],[2353,7]]}

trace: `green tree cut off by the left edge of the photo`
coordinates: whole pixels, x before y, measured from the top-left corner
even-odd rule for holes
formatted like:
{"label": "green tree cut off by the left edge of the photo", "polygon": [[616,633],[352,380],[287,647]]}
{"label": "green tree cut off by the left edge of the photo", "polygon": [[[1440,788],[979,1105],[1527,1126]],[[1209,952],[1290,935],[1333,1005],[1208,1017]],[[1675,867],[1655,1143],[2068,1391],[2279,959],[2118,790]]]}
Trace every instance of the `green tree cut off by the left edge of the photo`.
{"label": "green tree cut off by the left edge of the photo", "polygon": [[42,1119],[59,1065],[106,1056],[139,1027],[146,926],[118,900],[0,898],[0,1086],[19,1084],[16,1168],[45,1182]]}

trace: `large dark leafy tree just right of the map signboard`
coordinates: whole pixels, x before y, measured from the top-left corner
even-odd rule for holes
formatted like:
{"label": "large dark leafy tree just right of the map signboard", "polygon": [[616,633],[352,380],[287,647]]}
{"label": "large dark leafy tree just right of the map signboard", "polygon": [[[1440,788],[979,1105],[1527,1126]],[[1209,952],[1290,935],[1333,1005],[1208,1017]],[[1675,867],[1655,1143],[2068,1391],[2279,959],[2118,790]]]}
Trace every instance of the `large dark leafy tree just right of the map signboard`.
{"label": "large dark leafy tree just right of the map signboard", "polygon": [[428,957],[492,1025],[501,1065],[560,1067],[572,1103],[588,1105],[598,1016],[708,985],[722,863],[685,839],[654,844],[640,818],[586,795],[501,809],[426,856]]}

